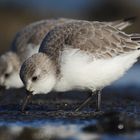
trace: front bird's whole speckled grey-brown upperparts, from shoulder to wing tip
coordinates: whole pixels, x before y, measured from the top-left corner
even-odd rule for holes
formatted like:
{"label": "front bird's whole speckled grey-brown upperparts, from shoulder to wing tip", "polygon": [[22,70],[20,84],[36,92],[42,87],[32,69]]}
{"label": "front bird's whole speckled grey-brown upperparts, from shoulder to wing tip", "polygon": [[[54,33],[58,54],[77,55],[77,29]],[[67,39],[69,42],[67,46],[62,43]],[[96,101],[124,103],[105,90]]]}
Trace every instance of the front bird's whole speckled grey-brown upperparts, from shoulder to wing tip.
{"label": "front bird's whole speckled grey-brown upperparts, from shoulder to wing tip", "polygon": [[65,45],[91,53],[95,58],[109,58],[136,50],[140,44],[105,23],[77,21],[51,30],[39,51],[55,59]]}

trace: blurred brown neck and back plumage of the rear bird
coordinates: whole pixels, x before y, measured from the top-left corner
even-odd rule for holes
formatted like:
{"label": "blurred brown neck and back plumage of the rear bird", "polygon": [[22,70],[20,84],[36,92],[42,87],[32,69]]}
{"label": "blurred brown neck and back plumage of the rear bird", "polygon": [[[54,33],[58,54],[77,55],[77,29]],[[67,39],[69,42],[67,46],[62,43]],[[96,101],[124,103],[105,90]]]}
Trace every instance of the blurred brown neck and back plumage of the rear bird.
{"label": "blurred brown neck and back plumage of the rear bird", "polygon": [[34,48],[38,47],[45,35],[51,29],[68,21],[70,21],[70,19],[50,19],[41,20],[27,25],[16,34],[11,46],[11,50],[16,52],[23,62],[27,58],[27,45],[31,44]]}

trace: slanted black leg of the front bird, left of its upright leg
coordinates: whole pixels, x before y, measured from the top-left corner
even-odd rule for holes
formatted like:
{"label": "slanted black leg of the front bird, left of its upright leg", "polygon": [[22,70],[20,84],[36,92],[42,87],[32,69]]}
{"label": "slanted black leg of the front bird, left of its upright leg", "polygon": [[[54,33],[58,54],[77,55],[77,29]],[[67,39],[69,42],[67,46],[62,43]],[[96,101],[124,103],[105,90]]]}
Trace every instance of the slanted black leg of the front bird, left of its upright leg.
{"label": "slanted black leg of the front bird, left of its upright leg", "polygon": [[75,111],[80,111],[83,107],[85,107],[93,98],[94,95],[96,95],[96,91],[92,92],[90,97],[88,97]]}

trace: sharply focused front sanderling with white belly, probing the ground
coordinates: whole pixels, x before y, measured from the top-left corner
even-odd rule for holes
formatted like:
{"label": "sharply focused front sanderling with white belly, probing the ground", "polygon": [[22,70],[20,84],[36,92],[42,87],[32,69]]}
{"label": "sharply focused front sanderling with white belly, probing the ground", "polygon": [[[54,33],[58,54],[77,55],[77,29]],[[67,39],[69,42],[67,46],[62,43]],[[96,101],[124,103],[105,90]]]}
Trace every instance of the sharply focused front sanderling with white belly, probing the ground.
{"label": "sharply focused front sanderling with white belly, probing the ground", "polygon": [[140,56],[140,35],[126,34],[103,22],[71,21],[53,28],[43,39],[39,52],[21,66],[20,78],[27,90],[21,111],[32,95],[51,91],[91,90],[76,111],[111,85]]}

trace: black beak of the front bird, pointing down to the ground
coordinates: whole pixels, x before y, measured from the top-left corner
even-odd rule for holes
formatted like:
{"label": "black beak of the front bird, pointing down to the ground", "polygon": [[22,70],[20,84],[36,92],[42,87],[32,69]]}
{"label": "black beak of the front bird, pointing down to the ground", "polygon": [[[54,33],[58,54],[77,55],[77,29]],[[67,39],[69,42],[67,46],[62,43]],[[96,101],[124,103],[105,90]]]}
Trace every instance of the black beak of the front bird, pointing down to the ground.
{"label": "black beak of the front bird, pointing down to the ground", "polygon": [[33,92],[30,92],[30,91],[26,90],[26,94],[27,94],[27,95],[26,95],[26,97],[25,97],[25,99],[24,99],[24,101],[23,101],[22,108],[21,108],[21,112],[24,112],[24,111],[25,111],[25,107],[27,106],[29,100],[30,100],[31,97],[33,96],[32,93],[33,93]]}

